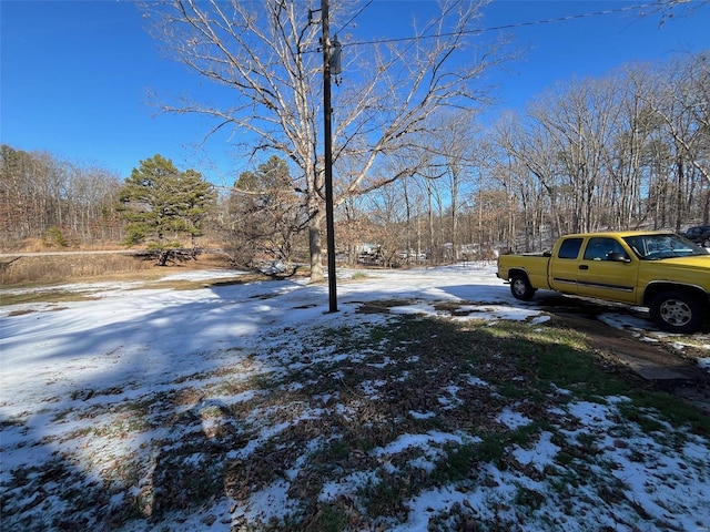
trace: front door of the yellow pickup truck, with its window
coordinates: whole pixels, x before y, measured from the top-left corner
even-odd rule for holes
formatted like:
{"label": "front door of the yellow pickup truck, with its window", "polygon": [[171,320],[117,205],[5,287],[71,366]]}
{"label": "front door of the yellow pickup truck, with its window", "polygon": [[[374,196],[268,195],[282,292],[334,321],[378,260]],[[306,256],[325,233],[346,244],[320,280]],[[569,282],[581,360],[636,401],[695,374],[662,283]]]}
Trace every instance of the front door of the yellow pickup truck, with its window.
{"label": "front door of the yellow pickup truck, with its window", "polygon": [[578,295],[625,303],[636,300],[636,260],[615,238],[589,238],[578,264]]}

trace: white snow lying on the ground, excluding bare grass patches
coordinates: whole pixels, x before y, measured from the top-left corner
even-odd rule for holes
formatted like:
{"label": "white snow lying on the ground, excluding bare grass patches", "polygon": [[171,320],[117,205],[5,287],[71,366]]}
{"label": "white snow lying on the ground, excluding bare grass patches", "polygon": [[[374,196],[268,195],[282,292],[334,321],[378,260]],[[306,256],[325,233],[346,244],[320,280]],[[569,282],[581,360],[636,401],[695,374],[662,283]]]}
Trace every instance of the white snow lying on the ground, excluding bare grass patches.
{"label": "white snow lying on the ground, excluding bare grass patches", "polygon": [[[72,284],[53,289],[90,294],[92,299],[0,307],[3,530],[6,524],[7,530],[60,530],[61,521],[51,521],[51,515],[65,514],[77,507],[72,499],[97,485],[109,491],[105,508],[81,508],[83,513],[74,516],[97,530],[116,529],[118,525],[103,522],[101,513],[110,513],[129,499],[143,501],[145,508],[156,504],[160,492],[151,488],[158,483],[161,460],[179,450],[183,439],[197,433],[204,434],[207,447],[225,432],[236,434],[236,440],[240,434],[247,434],[247,441],[239,440],[240,446],[224,451],[224,460],[232,462],[248,461],[267,446],[274,446],[277,454],[274,442],[278,436],[298,423],[323,429],[311,438],[308,452],[316,453],[324,444],[337,441],[341,436],[326,430],[328,417],[351,419],[354,408],[345,405],[341,392],[323,390],[311,402],[266,401],[271,390],[296,397],[315,379],[310,371],[316,365],[329,371],[333,381],[343,381],[346,375],[338,364],[365,360],[365,352],[334,352],[327,345],[310,346],[306,354],[294,355],[293,347],[301,346],[313,330],[344,326],[356,330],[387,324],[403,315],[446,316],[453,323],[487,320],[491,326],[516,320],[531,328],[549,319],[534,301],[513,299],[495,277],[491,265],[365,274],[353,277],[351,270],[338,273],[337,313],[327,311],[327,286],[310,285],[307,279],[192,290],[161,288],[160,284],[145,287],[141,283]],[[235,275],[239,273],[186,272],[163,280],[210,280]],[[0,295],[14,293],[18,290],[8,289]],[[366,301],[385,299],[398,303],[389,308],[389,315],[357,311]],[[440,304],[460,304],[459,311],[447,315],[437,310]],[[600,319],[636,330],[651,327],[638,316],[623,314],[605,313]],[[652,339],[646,330],[638,334]],[[702,360],[706,367],[710,366],[708,360],[710,357]],[[418,357],[405,361],[416,365]],[[356,405],[365,408],[369,401],[382,399],[387,370],[393,366],[395,358],[388,356],[364,365],[368,375],[382,372],[382,377],[364,379],[351,390]],[[281,377],[293,375],[301,380],[280,385]],[[254,379],[271,379],[273,388],[250,386]],[[473,390],[489,389],[488,382],[476,375],[469,375],[466,381]],[[460,381],[458,386],[452,383],[442,390],[439,407],[463,405],[462,393]],[[558,393],[571,395],[562,389]],[[170,401],[163,400],[166,397]],[[572,400],[550,408],[547,417],[551,428],[541,430],[531,446],[511,444],[504,453],[501,460],[515,467],[481,463],[476,474],[487,479],[485,483],[468,479],[458,485],[425,487],[404,502],[406,515],[383,516],[378,530],[450,530],[454,515],[508,523],[510,530],[520,531],[652,531],[663,526],[708,530],[710,441],[690,432],[676,441],[665,441],[658,434],[645,433],[636,423],[619,423],[619,409],[627,402],[617,397],[599,402]],[[134,410],[141,410],[142,416],[134,415]],[[233,415],[226,415],[234,411],[241,415],[240,426]],[[525,428],[532,422],[525,411],[524,403],[511,402],[494,421],[508,430]],[[416,422],[436,416],[415,407],[406,410],[407,415]],[[184,422],[163,422],[179,418]],[[656,421],[665,427],[662,419]],[[145,424],[140,426],[141,422]],[[251,431],[243,432],[243,426]],[[102,427],[111,427],[114,432],[98,436]],[[594,441],[596,456],[585,466],[578,459],[560,466],[556,461],[561,450],[560,437],[572,447]],[[368,464],[363,470],[333,473],[320,488],[316,500],[347,500],[356,508],[358,490],[383,482],[383,475],[372,464],[381,463],[384,471],[396,473],[404,457],[412,454],[407,463],[413,470],[430,472],[447,446],[473,446],[479,441],[464,430],[448,431],[444,427],[399,434],[357,454],[364,466]],[[182,454],[182,460],[199,471],[206,468],[204,452],[193,449]],[[122,472],[121,464],[129,461],[135,464],[135,478],[126,480],[122,475],[129,473]],[[234,485],[229,487],[225,479],[224,488],[217,487],[200,508],[186,504],[189,511],[163,515],[161,530],[262,530],[264,523],[287,519],[298,512],[292,488],[306,462],[305,454],[295,459],[283,477],[252,487],[243,497],[237,497],[240,480],[232,479]],[[36,466],[23,473],[28,485],[37,485],[33,477],[43,477],[41,492],[22,489],[18,474],[27,464]],[[598,485],[595,491],[591,484],[585,484],[580,473],[585,468],[589,468],[590,477],[608,479],[608,485]],[[42,472],[54,470],[57,474]],[[527,470],[530,474],[521,473]],[[549,480],[547,475],[552,470],[564,473],[575,488]],[[129,484],[129,490],[115,488]],[[75,493],[58,494],[58,487],[71,488]],[[532,499],[520,501],[521,493]],[[605,504],[606,500],[633,503],[613,507]],[[7,521],[9,503],[13,513],[12,520]],[[527,514],[516,513],[528,503],[531,510]],[[155,524],[148,511],[129,518],[123,516],[116,530],[152,530]]]}

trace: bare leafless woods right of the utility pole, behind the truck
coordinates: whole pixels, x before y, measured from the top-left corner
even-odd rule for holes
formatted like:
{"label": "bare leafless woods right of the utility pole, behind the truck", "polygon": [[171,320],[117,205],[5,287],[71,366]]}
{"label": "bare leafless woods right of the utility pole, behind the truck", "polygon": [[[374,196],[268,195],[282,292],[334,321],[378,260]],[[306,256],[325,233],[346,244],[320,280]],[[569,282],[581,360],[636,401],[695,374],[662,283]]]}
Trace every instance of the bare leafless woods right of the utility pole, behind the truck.
{"label": "bare leafless woods right of the utility pole, behind the truck", "polygon": [[710,223],[707,52],[558,84],[485,129],[436,120],[447,134],[420,154],[422,171],[344,204],[339,243],[367,235],[384,260],[402,249],[446,260]]}

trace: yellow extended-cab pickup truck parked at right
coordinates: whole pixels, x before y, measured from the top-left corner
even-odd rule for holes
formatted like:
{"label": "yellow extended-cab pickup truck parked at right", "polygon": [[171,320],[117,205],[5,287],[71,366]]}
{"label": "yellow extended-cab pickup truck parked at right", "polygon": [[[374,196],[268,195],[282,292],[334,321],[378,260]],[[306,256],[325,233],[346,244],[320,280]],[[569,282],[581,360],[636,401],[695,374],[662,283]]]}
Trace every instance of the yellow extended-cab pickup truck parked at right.
{"label": "yellow extended-cab pickup truck parked at right", "polygon": [[500,255],[496,275],[520,300],[540,288],[649,307],[671,332],[700,329],[710,307],[710,254],[672,233],[567,235],[551,253]]}

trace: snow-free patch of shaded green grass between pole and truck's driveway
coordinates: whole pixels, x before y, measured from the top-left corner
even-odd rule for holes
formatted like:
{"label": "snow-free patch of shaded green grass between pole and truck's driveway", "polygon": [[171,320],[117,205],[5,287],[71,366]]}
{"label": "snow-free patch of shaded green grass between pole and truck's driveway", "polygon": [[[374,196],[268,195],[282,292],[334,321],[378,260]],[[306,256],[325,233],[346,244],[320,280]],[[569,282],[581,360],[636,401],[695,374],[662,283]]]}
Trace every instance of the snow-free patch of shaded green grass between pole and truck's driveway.
{"label": "snow-free patch of shaded green grass between pole and truck's driveway", "polygon": [[[403,304],[388,301],[393,303]],[[607,371],[585,335],[568,328],[514,321],[495,326],[477,321],[456,324],[445,318],[407,315],[369,329],[324,330],[320,344],[335,344],[337,352],[373,356],[386,352],[396,357],[398,367],[381,372],[392,377],[403,368],[413,369],[406,377],[406,386],[413,390],[429,386],[432,371],[470,374],[494,385],[505,399],[541,406],[560,388],[570,390],[570,398],[592,402],[627,396],[632,403],[622,405],[622,411],[628,419],[642,422],[646,430],[660,427],[658,421],[638,413],[638,408],[653,408],[676,427],[689,426],[696,433],[710,432],[710,419],[694,407],[665,392],[640,389],[638,383]],[[405,360],[414,362],[405,365]],[[429,372],[416,371],[423,367]],[[416,421],[422,428],[440,426],[440,420]]]}

